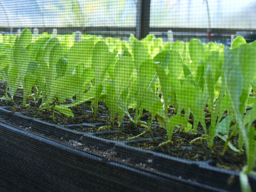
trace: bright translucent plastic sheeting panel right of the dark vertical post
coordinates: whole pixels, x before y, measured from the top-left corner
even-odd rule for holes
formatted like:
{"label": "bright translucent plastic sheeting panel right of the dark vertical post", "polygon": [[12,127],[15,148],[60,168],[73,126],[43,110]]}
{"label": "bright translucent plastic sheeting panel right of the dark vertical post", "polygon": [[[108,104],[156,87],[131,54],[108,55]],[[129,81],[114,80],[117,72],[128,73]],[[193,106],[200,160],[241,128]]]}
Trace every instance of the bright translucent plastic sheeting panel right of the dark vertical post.
{"label": "bright translucent plastic sheeting panel right of the dark vertical post", "polygon": [[[208,0],[211,28],[256,28],[255,0]],[[151,0],[150,27],[208,28],[204,0]]]}

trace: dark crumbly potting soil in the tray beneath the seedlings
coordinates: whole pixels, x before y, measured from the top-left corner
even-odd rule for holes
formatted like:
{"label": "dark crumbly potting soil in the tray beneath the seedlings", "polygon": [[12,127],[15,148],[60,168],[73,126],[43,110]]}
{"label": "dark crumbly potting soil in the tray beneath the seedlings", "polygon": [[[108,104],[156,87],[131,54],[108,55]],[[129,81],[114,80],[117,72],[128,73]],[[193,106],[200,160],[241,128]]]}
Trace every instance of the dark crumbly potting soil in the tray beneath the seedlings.
{"label": "dark crumbly potting soil in the tray beneath the seedlings", "polygon": [[[5,88],[6,83],[0,84],[0,97],[5,96]],[[75,97],[73,98],[75,99]],[[40,99],[38,102],[34,100],[29,100],[27,98],[27,104],[30,104],[30,109],[28,111],[27,108],[22,106],[23,103],[23,91],[17,90],[16,95],[14,96],[14,101],[7,101],[2,100],[0,101],[0,106],[8,106],[10,110],[13,112],[21,112],[23,115],[27,115],[29,117],[34,117],[37,112],[38,107],[40,106],[42,100]],[[69,101],[67,101],[69,102]],[[55,112],[55,121],[52,120],[52,112],[43,109],[39,112],[36,118],[46,121],[49,123],[54,124],[61,124],[61,125],[70,125],[70,124],[81,124],[81,123],[101,123],[102,125],[109,125],[110,119],[110,111],[104,104],[104,102],[99,102],[98,111],[96,118],[93,117],[93,113],[91,110],[91,102],[85,102],[78,107],[71,107],[70,108],[74,114],[74,117],[67,117],[64,114],[60,114]],[[133,117],[135,111],[133,109],[128,110]],[[210,117],[210,114],[206,110],[206,117]],[[174,114],[172,108],[170,108],[169,112],[170,115]],[[150,120],[151,114],[147,111],[144,111],[143,117],[141,118],[142,121],[147,122]],[[192,117],[191,117],[192,118]],[[210,120],[206,120],[207,126],[209,126]],[[191,122],[193,124],[193,122]],[[67,126],[69,128],[69,126]],[[97,132],[99,126],[95,127],[86,127],[86,126],[76,126],[70,127],[72,130],[80,131],[80,132]],[[197,132],[188,132],[185,133],[184,131],[178,131],[178,128],[175,129],[176,133],[173,134],[172,137],[172,144],[163,144],[158,146],[160,143],[167,141],[167,132],[163,129],[157,122],[157,119],[153,120],[152,125],[152,133],[155,137],[155,140],[145,141],[145,142],[135,142],[130,143],[129,145],[145,150],[152,150],[155,152],[163,153],[166,155],[193,160],[193,161],[208,161],[209,164],[212,166],[217,166],[220,168],[225,168],[229,170],[240,171],[244,165],[246,165],[246,155],[237,153],[231,150],[229,147],[223,153],[223,148],[225,142],[220,138],[216,137],[214,139],[214,147],[213,151],[208,148],[207,143],[205,141],[197,140],[194,143],[190,144],[193,139],[200,137],[204,132],[203,128],[199,126],[197,127]],[[101,134],[99,137],[109,140],[119,140],[125,141],[133,136],[136,136],[142,132],[144,132],[143,127],[136,127],[134,123],[130,122],[127,115],[123,118],[123,123],[120,127],[118,127],[118,114],[115,114],[114,123],[110,128],[111,131],[117,130],[116,133],[113,134]],[[107,129],[102,129],[101,132],[109,131]],[[151,138],[149,133],[145,133],[141,137],[136,139],[142,138]],[[56,138],[55,138],[56,139]],[[58,140],[58,139],[57,139]],[[61,141],[61,139],[59,139]],[[93,146],[86,146],[84,144],[79,144],[79,141],[62,141],[69,143],[72,146],[82,148],[88,151],[97,151],[97,148]],[[235,137],[231,140],[231,143],[237,147],[238,146],[238,138]],[[115,157],[114,152],[98,152],[101,155],[110,155],[112,158]],[[256,169],[255,169],[256,170]]]}

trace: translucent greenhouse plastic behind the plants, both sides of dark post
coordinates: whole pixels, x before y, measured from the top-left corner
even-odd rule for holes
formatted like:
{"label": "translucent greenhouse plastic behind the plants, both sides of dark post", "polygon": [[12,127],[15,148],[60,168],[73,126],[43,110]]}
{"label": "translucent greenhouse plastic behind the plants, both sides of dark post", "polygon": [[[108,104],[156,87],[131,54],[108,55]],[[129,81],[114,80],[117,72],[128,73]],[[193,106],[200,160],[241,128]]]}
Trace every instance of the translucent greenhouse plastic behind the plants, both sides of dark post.
{"label": "translucent greenhouse plastic behind the plants, both sides of dark post", "polygon": [[[138,0],[2,0],[1,27],[135,27]],[[151,0],[150,27],[256,28],[255,0]]]}

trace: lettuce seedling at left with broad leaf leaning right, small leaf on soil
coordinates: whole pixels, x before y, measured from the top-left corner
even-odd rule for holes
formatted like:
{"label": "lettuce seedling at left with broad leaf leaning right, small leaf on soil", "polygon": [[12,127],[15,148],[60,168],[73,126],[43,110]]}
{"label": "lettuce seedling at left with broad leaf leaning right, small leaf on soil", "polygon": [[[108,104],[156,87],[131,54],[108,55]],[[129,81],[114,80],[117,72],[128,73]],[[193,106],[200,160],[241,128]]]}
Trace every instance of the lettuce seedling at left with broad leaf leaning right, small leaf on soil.
{"label": "lettuce seedling at left with broad leaf leaning right, small leaf on soil", "polygon": [[[66,98],[71,98],[78,92],[78,89],[80,88],[80,78],[76,75],[65,75],[57,78],[56,63],[63,56],[60,43],[55,43],[57,40],[55,37],[50,38],[47,41],[42,53],[44,58],[38,58],[40,67],[44,74],[47,98],[46,101],[39,106],[37,113],[35,114],[35,116],[37,116],[38,112],[42,108],[46,107],[49,110],[52,106],[53,120],[55,109],[67,116],[74,116],[70,109],[64,106],[57,106],[56,104],[59,102],[64,102]],[[52,43],[54,44],[50,47]],[[47,52],[48,50],[49,52]]]}

